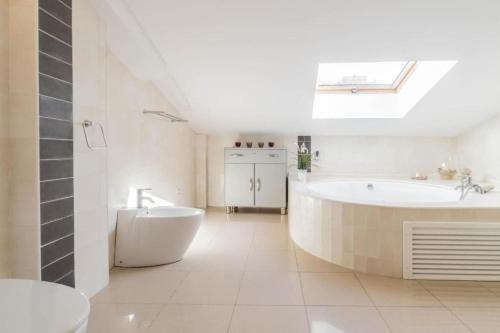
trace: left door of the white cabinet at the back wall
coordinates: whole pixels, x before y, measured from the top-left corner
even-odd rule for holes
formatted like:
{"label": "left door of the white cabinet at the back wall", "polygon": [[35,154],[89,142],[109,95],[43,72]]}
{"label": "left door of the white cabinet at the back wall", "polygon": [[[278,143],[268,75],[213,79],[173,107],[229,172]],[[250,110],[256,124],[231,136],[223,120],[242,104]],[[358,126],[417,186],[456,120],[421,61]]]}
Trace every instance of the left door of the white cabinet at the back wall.
{"label": "left door of the white cabinet at the back wall", "polygon": [[225,164],[225,201],[226,206],[253,207],[254,164]]}

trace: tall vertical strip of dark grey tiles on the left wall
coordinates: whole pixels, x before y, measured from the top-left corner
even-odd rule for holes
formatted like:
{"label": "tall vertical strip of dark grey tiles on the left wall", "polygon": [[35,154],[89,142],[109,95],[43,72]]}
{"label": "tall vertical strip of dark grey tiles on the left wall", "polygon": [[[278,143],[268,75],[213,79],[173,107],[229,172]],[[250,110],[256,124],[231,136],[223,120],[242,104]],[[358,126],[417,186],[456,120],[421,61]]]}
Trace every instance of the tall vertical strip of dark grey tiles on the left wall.
{"label": "tall vertical strip of dark grey tiles on the left wall", "polygon": [[42,280],[74,287],[72,11],[40,0],[38,15]]}

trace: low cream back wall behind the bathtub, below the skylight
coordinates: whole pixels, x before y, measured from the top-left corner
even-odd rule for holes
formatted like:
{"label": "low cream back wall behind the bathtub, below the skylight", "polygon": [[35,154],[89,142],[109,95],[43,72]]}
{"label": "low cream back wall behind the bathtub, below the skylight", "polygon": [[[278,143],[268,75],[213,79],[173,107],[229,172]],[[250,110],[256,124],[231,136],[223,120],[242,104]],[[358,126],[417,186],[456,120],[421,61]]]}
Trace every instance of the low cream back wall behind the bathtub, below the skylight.
{"label": "low cream back wall behind the bathtub, below the skylight", "polygon": [[320,151],[315,174],[411,177],[436,175],[454,150],[453,138],[312,137]]}

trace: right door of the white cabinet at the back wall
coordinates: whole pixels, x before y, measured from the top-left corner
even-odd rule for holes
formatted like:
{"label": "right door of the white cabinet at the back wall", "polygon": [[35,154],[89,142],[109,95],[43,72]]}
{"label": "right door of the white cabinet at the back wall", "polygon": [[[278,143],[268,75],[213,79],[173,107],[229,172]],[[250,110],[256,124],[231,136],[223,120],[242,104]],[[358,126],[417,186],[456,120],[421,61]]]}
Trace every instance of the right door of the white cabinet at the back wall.
{"label": "right door of the white cabinet at the back wall", "polygon": [[286,164],[255,164],[255,206],[286,207]]}

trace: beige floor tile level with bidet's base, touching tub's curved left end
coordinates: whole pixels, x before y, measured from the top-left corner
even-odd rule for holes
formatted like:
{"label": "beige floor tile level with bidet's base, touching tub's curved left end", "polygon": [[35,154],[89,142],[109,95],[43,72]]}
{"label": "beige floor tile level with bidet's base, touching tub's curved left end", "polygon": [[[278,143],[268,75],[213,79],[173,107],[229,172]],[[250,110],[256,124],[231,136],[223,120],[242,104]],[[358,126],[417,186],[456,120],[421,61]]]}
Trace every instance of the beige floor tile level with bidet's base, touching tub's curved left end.
{"label": "beige floor tile level with bidet's base, touching tub's curved left end", "polygon": [[246,263],[247,271],[297,271],[295,253],[287,250],[251,250]]}

